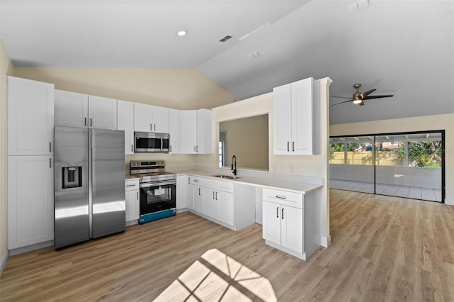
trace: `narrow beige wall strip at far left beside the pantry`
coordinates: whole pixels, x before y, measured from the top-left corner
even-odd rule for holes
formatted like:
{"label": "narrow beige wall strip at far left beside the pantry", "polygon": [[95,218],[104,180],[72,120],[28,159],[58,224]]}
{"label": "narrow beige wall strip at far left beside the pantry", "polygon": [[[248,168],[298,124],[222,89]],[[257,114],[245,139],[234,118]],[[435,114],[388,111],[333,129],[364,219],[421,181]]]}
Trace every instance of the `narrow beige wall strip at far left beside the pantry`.
{"label": "narrow beige wall strip at far left beside the pantry", "polygon": [[6,253],[6,75],[13,64],[0,40],[0,259]]}

